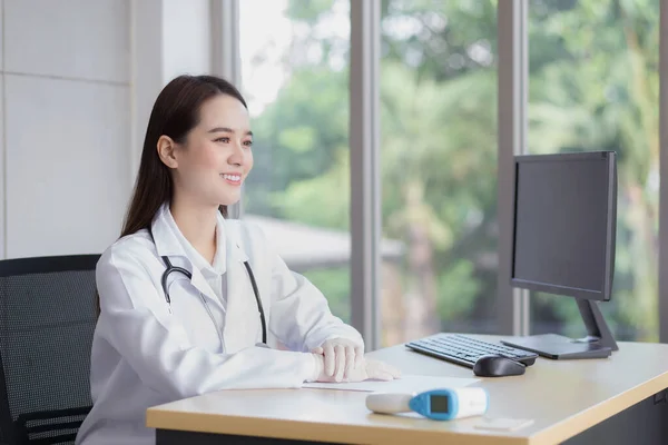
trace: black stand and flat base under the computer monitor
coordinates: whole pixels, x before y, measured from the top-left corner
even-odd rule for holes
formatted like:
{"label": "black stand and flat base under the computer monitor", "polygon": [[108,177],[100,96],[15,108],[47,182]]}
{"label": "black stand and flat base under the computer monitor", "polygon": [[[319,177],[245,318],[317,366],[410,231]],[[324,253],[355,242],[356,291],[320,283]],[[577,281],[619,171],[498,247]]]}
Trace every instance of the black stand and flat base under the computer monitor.
{"label": "black stand and flat base under the computer monitor", "polygon": [[618,350],[617,342],[598,307],[598,301],[576,299],[587,328],[587,337],[572,339],[557,334],[532,335],[502,340],[508,346],[553,359],[605,358]]}

